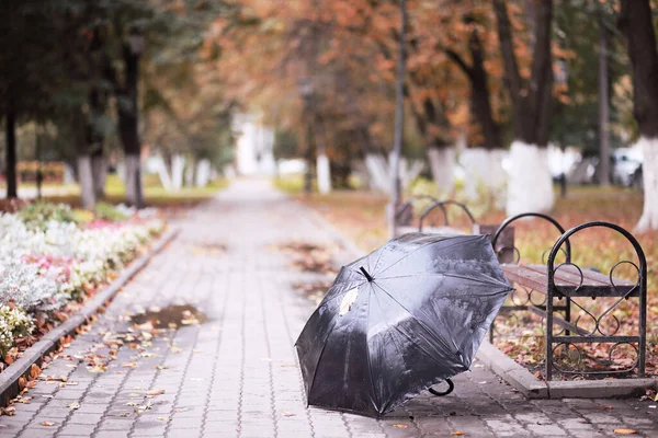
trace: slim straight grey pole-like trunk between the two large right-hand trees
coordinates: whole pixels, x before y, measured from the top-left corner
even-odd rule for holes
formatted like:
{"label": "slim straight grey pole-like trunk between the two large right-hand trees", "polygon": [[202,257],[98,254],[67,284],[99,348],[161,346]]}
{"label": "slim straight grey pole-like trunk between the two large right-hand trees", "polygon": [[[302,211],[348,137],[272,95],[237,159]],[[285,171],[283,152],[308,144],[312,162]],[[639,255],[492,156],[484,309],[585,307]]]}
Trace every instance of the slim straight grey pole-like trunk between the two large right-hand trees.
{"label": "slim straight grey pole-like trunk between the two large right-hand trees", "polygon": [[599,12],[599,184],[610,185],[610,83],[608,79],[608,30]]}

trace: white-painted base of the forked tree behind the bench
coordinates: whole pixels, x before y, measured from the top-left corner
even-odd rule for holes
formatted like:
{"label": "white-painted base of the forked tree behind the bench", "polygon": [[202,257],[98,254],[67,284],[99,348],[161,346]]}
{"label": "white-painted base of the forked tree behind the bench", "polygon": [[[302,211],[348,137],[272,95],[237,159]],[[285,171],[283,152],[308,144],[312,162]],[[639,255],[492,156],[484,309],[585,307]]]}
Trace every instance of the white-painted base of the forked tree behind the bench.
{"label": "white-painted base of the forked tree behind the bench", "polygon": [[510,148],[508,216],[553,208],[555,195],[546,148],[514,140]]}

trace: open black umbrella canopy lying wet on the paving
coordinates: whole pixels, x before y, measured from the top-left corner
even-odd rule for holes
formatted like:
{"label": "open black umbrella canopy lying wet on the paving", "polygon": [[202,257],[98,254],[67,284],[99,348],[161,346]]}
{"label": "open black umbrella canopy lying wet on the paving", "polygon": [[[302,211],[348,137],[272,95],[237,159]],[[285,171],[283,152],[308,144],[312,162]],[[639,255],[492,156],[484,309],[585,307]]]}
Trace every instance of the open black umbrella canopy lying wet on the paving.
{"label": "open black umbrella canopy lying wet on the paving", "polygon": [[485,235],[405,234],[344,266],[295,344],[308,404],[378,416],[466,371],[511,289]]}

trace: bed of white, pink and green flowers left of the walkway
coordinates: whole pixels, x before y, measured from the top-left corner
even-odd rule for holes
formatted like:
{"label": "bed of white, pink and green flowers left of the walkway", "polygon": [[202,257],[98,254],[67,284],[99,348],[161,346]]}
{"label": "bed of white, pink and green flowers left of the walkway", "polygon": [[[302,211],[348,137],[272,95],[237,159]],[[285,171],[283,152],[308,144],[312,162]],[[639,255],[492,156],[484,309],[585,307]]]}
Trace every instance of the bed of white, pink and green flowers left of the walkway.
{"label": "bed of white, pink and green flowers left of the walkway", "polygon": [[155,210],[34,204],[0,216],[0,370],[164,229]]}

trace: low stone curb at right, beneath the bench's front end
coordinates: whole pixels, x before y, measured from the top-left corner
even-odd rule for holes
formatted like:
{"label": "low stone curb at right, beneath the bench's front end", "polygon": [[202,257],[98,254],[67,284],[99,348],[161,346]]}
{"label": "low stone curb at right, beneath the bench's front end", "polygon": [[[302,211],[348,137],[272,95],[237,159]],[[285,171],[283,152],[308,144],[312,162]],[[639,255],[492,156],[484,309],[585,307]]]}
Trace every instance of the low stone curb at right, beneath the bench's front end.
{"label": "low stone curb at right, beneath the bench's front end", "polygon": [[644,395],[654,378],[545,382],[485,341],[476,356],[487,368],[529,399],[611,399]]}

